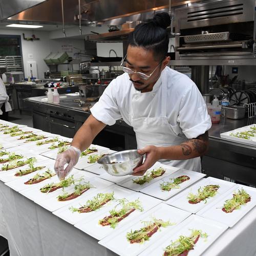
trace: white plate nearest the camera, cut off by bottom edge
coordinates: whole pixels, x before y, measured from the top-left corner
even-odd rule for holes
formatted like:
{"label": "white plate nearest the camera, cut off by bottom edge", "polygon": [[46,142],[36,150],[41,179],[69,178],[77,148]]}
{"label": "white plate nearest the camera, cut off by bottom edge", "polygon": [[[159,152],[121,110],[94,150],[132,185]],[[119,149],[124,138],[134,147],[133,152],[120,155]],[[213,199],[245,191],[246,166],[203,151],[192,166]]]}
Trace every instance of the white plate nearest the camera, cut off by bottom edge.
{"label": "white plate nearest the camera, cut off by bottom edge", "polygon": [[171,241],[176,241],[180,236],[190,236],[191,229],[201,230],[207,233],[208,237],[199,238],[193,250],[189,250],[189,256],[199,256],[228,228],[228,226],[219,222],[204,219],[202,217],[191,215],[179,225],[177,225],[166,236],[159,239],[154,245],[148,247],[140,256],[163,255],[164,249]]}

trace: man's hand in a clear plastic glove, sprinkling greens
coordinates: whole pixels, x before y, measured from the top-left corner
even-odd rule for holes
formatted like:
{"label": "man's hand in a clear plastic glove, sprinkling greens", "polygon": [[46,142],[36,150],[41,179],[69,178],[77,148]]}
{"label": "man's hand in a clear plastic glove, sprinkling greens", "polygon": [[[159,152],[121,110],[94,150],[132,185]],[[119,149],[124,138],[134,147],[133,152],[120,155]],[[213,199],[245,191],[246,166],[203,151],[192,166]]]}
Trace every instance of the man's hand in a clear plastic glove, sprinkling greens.
{"label": "man's hand in a clear plastic glove, sprinkling greens", "polygon": [[[66,151],[57,155],[54,170],[60,180],[65,179],[71,172],[77,164],[80,154],[79,148],[70,146]],[[65,164],[68,164],[68,166],[64,169]]]}

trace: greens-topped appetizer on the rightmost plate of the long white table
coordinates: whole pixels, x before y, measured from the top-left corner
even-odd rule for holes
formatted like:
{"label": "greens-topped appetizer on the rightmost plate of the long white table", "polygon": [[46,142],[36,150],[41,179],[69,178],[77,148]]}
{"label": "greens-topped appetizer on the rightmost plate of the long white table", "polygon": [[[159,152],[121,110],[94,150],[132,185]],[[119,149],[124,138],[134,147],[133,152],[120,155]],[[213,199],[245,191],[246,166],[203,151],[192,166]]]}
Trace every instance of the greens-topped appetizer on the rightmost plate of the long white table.
{"label": "greens-topped appetizer on the rightmost plate of the long white table", "polygon": [[242,205],[251,201],[251,197],[242,188],[237,193],[233,194],[231,199],[225,201],[222,210],[226,213],[232,212],[233,210],[240,209]]}

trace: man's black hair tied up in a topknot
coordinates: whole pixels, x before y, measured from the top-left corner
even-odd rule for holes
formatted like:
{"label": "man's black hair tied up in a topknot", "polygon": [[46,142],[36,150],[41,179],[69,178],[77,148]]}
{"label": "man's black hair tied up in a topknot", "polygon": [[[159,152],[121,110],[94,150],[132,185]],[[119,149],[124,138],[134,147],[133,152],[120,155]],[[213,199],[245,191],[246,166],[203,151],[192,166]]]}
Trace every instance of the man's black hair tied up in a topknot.
{"label": "man's black hair tied up in a topknot", "polygon": [[153,50],[156,60],[162,60],[167,55],[169,36],[166,28],[170,25],[167,12],[157,13],[146,23],[138,24],[129,34],[128,46],[142,47]]}

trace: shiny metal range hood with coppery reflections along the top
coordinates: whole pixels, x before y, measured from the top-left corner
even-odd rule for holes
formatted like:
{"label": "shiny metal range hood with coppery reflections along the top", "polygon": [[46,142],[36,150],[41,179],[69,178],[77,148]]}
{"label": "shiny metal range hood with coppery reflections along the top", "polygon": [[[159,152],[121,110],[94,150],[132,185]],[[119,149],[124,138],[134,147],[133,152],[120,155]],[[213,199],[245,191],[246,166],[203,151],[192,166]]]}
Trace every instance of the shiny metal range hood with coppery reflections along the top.
{"label": "shiny metal range hood with coppery reflections along the top", "polygon": [[[4,0],[8,3],[10,0]],[[14,2],[14,1],[12,1]],[[15,0],[18,2],[27,2]],[[36,2],[36,1],[31,1]],[[38,1],[43,2],[43,1]],[[203,2],[200,0],[172,0],[172,7],[191,4],[194,2]],[[65,24],[77,24],[74,17],[79,14],[78,0],[63,0],[63,9],[65,13]],[[104,23],[108,20],[120,17],[129,17],[131,15],[156,11],[168,8],[169,0],[147,0],[147,1],[120,1],[120,0],[80,0],[81,14],[83,21]],[[48,0],[33,8],[27,9],[17,15],[10,17],[11,20],[42,22],[49,24],[62,23],[61,1]],[[124,21],[125,22],[125,21]],[[84,25],[87,23],[84,22]]]}

